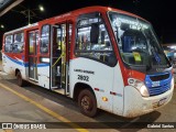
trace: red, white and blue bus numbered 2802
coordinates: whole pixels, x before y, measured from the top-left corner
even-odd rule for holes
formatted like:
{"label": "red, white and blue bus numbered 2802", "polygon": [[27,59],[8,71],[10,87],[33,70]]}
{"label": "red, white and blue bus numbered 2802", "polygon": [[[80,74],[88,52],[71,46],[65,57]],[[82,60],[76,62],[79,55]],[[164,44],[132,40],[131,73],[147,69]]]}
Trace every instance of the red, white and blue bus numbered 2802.
{"label": "red, white and blue bus numbered 2802", "polygon": [[152,24],[110,7],[77,9],[4,33],[2,66],[28,82],[78,102],[134,118],[167,105],[173,67]]}

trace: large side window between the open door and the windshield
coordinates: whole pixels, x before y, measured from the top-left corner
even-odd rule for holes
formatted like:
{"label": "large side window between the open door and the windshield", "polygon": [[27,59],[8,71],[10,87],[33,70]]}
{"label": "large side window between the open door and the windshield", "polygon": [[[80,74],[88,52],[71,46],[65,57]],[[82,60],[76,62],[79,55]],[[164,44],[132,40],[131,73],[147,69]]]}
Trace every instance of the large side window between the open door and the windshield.
{"label": "large side window between the open door and the windshield", "polygon": [[117,59],[102,19],[92,13],[85,18],[77,23],[76,55],[114,66]]}

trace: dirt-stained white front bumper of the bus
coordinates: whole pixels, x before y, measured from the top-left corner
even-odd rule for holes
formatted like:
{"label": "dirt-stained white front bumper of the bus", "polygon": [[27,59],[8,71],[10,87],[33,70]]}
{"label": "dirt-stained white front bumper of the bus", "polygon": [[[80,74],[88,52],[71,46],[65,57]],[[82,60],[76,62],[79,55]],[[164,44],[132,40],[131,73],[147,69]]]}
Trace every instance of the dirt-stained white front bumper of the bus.
{"label": "dirt-stained white front bumper of the bus", "polygon": [[173,97],[173,90],[174,87],[162,95],[153,97],[142,97],[134,87],[124,87],[123,117],[139,117],[167,105]]}

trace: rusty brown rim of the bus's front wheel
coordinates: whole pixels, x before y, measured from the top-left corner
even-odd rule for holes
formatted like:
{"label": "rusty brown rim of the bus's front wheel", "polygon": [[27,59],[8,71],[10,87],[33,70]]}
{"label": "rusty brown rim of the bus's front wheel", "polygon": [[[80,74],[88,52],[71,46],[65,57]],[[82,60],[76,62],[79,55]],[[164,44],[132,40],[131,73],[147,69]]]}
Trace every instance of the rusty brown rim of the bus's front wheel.
{"label": "rusty brown rim of the bus's front wheel", "polygon": [[82,97],[80,105],[84,110],[90,111],[92,109],[92,102],[90,97],[88,96]]}

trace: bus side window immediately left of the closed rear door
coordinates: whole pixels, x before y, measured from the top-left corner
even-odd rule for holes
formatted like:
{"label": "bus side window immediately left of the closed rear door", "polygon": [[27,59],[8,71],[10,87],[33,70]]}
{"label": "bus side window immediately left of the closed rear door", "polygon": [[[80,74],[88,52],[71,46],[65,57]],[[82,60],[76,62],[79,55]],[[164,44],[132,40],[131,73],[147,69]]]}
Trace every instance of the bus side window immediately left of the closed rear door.
{"label": "bus side window immediately left of the closed rear door", "polygon": [[13,53],[22,53],[23,52],[23,42],[24,42],[24,34],[23,33],[14,34]]}

